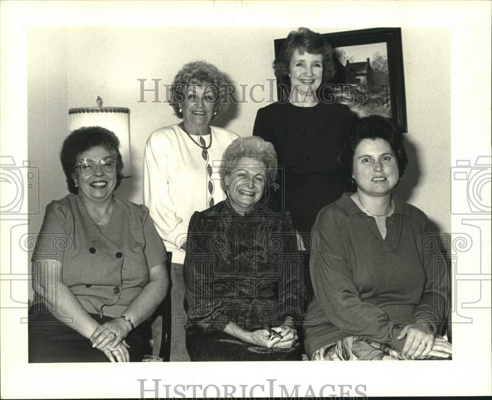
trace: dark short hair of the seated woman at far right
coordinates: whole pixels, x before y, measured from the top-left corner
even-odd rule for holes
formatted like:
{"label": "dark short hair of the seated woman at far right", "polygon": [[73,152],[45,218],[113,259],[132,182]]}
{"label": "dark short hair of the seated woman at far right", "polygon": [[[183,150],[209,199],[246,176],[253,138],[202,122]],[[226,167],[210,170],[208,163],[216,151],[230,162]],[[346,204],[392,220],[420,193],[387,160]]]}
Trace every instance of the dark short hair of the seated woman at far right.
{"label": "dark short hair of the seated woman at far right", "polygon": [[403,176],[408,165],[403,135],[388,118],[370,115],[352,123],[349,135],[338,156],[340,172],[351,190],[356,189],[356,183],[352,178],[355,149],[363,139],[383,139],[388,142],[395,154],[400,178]]}

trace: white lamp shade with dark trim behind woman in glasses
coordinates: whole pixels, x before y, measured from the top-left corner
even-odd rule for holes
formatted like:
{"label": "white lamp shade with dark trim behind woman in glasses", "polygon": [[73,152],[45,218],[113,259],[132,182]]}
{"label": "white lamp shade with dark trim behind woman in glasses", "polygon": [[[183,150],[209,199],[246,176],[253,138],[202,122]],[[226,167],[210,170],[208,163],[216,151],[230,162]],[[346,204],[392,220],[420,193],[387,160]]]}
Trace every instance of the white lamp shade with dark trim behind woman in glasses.
{"label": "white lamp shade with dark trim behind woman in glasses", "polygon": [[83,126],[102,126],[116,134],[120,139],[120,153],[123,158],[123,177],[131,176],[130,157],[130,110],[124,107],[70,108],[70,132]]}

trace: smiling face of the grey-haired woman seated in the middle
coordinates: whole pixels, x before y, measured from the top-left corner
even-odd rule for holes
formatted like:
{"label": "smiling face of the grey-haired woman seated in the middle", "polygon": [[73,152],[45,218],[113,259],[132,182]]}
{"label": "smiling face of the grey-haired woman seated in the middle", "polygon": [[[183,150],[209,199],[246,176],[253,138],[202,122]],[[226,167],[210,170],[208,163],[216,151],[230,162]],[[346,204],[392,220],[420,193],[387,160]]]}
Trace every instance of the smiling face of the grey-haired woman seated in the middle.
{"label": "smiling face of the grey-haired woman seated in the middle", "polygon": [[265,165],[255,157],[236,157],[225,178],[231,206],[241,215],[251,211],[267,185]]}

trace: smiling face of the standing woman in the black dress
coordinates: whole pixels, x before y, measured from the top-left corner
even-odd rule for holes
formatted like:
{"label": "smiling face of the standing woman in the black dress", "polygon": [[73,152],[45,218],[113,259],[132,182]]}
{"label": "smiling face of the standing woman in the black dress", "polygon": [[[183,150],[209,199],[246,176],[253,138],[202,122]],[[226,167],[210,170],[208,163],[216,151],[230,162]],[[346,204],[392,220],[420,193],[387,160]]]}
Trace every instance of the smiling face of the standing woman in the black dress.
{"label": "smiling face of the standing woman in the black dress", "polygon": [[[299,53],[297,49],[292,54],[289,66],[291,93],[297,91],[299,95],[312,95],[323,77],[323,56],[310,54],[305,51]],[[303,97],[300,96],[300,99]]]}

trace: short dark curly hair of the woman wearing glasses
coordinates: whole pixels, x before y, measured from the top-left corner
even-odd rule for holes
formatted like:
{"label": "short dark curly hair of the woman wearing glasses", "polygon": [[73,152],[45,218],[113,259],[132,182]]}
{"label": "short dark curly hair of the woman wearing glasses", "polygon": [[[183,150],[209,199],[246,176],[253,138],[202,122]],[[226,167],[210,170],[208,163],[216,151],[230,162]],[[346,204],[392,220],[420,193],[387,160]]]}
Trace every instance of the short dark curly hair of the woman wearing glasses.
{"label": "short dark curly hair of the woman wearing glasses", "polygon": [[79,155],[98,146],[104,147],[116,157],[115,189],[120,185],[123,179],[123,159],[119,150],[120,139],[113,132],[102,126],[84,126],[74,130],[65,138],[62,151],[60,152],[60,161],[62,162],[63,172],[65,173],[70,193],[77,194],[79,192],[72,177]]}

